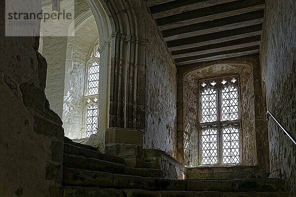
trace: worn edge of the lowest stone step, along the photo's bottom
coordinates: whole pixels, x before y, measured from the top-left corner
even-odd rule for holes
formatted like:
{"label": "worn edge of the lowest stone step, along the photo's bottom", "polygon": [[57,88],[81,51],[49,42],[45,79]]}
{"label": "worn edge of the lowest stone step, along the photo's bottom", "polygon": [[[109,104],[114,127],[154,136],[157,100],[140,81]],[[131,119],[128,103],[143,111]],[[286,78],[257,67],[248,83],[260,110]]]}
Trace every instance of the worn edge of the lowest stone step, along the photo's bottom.
{"label": "worn edge of the lowest stone step, along the photo's bottom", "polygon": [[[65,191],[68,190],[85,190],[85,192],[94,192],[94,191],[104,191],[104,193],[106,194],[106,197],[110,197],[110,193],[111,192],[117,192],[117,197],[132,197],[130,195],[133,195],[133,193],[136,193],[138,195],[141,194],[150,194],[153,196],[150,197],[155,197],[154,195],[157,195],[156,197],[162,197],[164,194],[205,194],[205,195],[211,195],[211,196],[207,196],[207,197],[228,197],[229,195],[231,195],[231,197],[234,197],[233,195],[240,195],[240,197],[242,195],[244,195],[244,197],[248,197],[245,195],[252,195],[250,197],[257,197],[257,195],[260,195],[259,197],[264,197],[265,195],[268,195],[268,197],[272,197],[273,195],[285,195],[283,197],[286,197],[287,195],[289,195],[289,192],[210,192],[210,191],[205,191],[205,192],[187,192],[187,191],[148,191],[148,190],[137,190],[137,189],[113,189],[113,188],[99,188],[99,187],[73,187],[73,186],[63,186],[64,189],[64,194]],[[130,195],[129,195],[130,194]],[[122,195],[122,196],[121,196]],[[145,196],[146,196],[145,195]],[[214,195],[214,196],[212,196]],[[256,196],[255,196],[256,195]],[[264,195],[264,196],[262,196]],[[272,195],[272,196],[271,196]],[[97,196],[96,196],[97,197]],[[104,196],[101,196],[104,197]],[[168,196],[165,196],[168,197]],[[278,197],[278,196],[277,196]]]}

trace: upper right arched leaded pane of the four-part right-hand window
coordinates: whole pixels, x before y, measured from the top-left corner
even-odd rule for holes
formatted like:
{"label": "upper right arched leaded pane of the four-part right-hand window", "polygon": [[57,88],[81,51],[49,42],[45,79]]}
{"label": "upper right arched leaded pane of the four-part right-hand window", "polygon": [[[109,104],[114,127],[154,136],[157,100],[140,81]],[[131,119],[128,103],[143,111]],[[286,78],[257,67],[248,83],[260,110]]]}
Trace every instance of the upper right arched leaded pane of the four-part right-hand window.
{"label": "upper right arched leaded pane of the four-part right-hand window", "polygon": [[234,86],[221,90],[221,120],[238,120],[238,91]]}

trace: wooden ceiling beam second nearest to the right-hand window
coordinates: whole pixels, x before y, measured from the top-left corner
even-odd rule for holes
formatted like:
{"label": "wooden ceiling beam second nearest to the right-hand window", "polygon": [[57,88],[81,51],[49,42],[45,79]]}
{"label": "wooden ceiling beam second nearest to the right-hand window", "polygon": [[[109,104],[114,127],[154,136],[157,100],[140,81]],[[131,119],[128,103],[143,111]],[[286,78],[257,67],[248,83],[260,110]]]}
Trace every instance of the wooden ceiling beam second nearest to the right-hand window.
{"label": "wooden ceiling beam second nearest to the right-hand window", "polygon": [[219,51],[229,51],[239,48],[245,48],[255,45],[260,45],[260,35],[251,36],[242,39],[221,42],[217,44],[210,44],[201,47],[195,47],[185,50],[172,51],[173,59],[186,58],[191,56],[198,56],[208,53],[216,53]]}

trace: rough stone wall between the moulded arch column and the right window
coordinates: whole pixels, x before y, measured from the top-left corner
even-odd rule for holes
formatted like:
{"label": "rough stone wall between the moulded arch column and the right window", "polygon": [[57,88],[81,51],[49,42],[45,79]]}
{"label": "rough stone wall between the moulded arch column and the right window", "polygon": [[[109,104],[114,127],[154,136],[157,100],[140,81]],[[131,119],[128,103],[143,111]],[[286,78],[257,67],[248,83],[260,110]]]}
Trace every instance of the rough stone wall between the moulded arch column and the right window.
{"label": "rough stone wall between the moulded arch column and the right window", "polygon": [[[143,6],[146,6],[145,4]],[[146,29],[146,134],[144,148],[176,157],[177,81],[174,65],[152,16],[142,8]]]}

